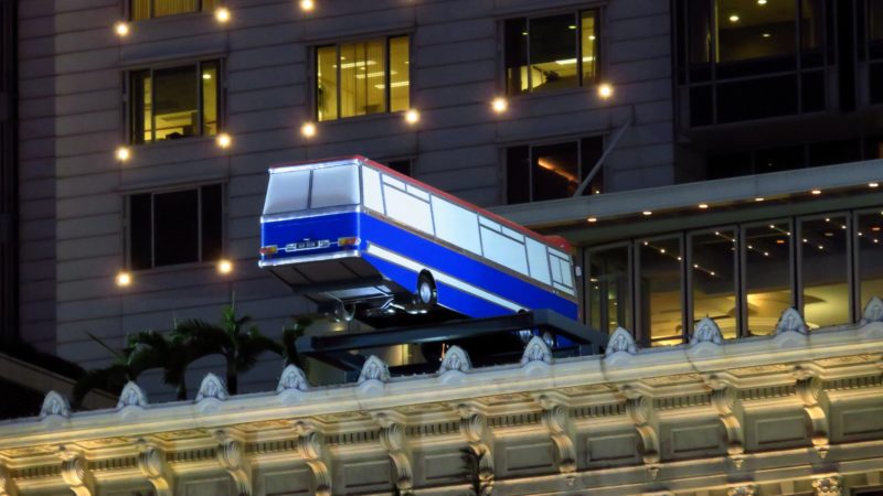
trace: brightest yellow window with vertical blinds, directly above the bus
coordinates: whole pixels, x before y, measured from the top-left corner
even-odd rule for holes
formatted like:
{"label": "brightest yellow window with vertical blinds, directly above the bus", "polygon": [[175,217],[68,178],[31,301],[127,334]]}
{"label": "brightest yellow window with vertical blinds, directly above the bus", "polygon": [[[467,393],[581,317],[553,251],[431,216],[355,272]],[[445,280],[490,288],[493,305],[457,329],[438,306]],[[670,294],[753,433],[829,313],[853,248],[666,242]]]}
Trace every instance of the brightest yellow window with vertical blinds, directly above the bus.
{"label": "brightest yellow window with vertical blinds, directly above the bus", "polygon": [[316,48],[317,119],[408,110],[409,53],[408,36]]}

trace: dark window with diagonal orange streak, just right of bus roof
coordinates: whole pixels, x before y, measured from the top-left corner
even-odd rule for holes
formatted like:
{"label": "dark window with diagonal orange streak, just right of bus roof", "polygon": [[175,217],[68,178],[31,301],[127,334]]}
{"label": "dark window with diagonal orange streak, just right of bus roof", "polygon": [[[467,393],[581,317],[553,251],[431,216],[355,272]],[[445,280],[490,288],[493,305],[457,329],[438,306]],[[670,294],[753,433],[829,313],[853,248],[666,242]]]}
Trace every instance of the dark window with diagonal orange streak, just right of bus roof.
{"label": "dark window with diagonal orange streak, just right of bus roof", "polygon": [[[507,149],[507,203],[573,196],[603,153],[603,137]],[[584,194],[600,193],[603,183],[604,175],[599,169]]]}

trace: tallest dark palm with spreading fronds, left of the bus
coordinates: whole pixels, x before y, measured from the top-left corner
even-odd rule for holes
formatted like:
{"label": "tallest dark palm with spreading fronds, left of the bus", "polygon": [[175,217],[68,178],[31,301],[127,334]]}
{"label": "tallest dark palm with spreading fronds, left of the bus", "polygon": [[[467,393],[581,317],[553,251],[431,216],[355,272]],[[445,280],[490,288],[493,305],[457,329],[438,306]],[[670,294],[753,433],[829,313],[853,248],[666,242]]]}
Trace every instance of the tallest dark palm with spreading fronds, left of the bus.
{"label": "tallest dark palm with spreading fronds, left of the bus", "polygon": [[257,364],[264,352],[283,355],[283,346],[260,334],[248,315],[236,316],[233,304],[224,308],[221,323],[210,324],[198,319],[181,322],[172,331],[185,349],[185,366],[209,355],[221,355],[226,360],[226,382],[231,395],[238,392],[238,375]]}

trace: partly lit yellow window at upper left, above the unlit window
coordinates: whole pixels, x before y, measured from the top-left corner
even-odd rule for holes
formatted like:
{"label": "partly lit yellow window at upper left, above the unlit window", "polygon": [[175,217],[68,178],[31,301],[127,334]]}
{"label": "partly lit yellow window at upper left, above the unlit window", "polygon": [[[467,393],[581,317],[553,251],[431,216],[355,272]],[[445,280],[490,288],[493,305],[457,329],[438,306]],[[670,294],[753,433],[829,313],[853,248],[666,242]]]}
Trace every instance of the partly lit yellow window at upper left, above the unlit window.
{"label": "partly lit yellow window at upper left, above the unlit window", "polygon": [[219,77],[217,62],[132,73],[131,142],[216,134]]}

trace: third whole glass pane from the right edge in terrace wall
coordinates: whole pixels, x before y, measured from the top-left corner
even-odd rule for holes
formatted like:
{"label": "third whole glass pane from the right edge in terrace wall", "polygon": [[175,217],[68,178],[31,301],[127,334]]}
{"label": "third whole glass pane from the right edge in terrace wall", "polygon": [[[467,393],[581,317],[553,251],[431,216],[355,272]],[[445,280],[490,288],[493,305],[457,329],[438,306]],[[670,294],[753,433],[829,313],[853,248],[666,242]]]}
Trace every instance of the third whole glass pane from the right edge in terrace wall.
{"label": "third whole glass pane from the right edge in terrace wall", "polygon": [[736,234],[733,229],[690,238],[693,321],[711,317],[724,337],[738,334],[736,321]]}

